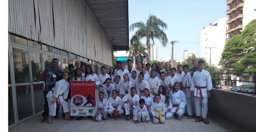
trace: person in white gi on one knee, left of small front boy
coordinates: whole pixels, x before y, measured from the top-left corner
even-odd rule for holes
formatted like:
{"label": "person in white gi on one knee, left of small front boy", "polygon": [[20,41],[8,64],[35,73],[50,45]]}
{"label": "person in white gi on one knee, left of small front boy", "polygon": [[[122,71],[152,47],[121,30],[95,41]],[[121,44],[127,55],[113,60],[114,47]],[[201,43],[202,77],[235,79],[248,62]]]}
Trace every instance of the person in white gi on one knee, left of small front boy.
{"label": "person in white gi on one knee, left of small front boy", "polygon": [[123,97],[123,107],[124,107],[124,110],[125,110],[125,115],[127,116],[126,117],[126,120],[130,120],[131,119],[131,111],[133,112],[134,114],[134,111],[135,111],[135,107],[137,105],[139,105],[139,100],[140,100],[140,97],[136,94],[136,89],[134,87],[131,88],[131,93],[128,93],[126,94],[124,97]]}

